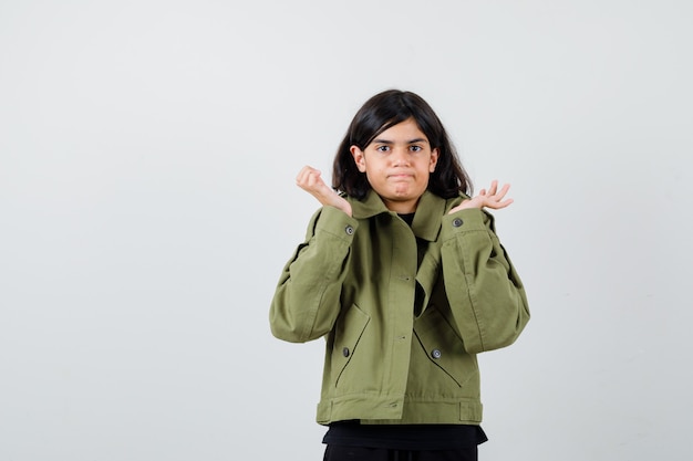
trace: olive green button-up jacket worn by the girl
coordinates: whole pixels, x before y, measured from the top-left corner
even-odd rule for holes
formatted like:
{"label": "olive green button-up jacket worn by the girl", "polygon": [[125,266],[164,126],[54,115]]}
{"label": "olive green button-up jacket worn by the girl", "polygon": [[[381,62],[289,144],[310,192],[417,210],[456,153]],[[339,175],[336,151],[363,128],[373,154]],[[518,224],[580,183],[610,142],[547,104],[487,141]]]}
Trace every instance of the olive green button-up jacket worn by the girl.
{"label": "olive green button-up jacket worn by the girl", "polygon": [[[311,219],[270,307],[272,334],[325,336],[318,422],[482,421],[476,354],[511,344],[525,290],[478,209],[425,192],[412,227],[371,191]],[[418,240],[418,244],[417,244]]]}

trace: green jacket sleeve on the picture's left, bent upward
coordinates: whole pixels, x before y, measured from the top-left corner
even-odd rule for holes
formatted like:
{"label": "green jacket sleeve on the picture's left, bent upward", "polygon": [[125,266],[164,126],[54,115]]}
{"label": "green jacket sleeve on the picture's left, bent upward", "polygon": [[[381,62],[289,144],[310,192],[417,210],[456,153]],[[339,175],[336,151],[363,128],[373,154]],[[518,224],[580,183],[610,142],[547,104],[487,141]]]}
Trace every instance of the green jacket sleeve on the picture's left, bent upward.
{"label": "green jacket sleeve on the picture's left, bent upward", "polygon": [[306,241],[285,265],[270,306],[279,339],[304,343],[332,329],[358,221],[333,207],[311,219]]}

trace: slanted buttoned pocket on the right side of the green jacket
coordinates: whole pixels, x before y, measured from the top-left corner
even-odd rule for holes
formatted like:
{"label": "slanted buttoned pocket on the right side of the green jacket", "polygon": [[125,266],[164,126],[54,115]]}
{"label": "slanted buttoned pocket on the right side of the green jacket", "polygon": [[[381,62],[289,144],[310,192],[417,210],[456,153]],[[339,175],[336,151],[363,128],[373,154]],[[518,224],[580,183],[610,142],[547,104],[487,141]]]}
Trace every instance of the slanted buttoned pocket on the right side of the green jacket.
{"label": "slanted buttoned pocket on the right side of the green jacket", "polygon": [[434,305],[416,319],[414,335],[427,359],[457,386],[463,387],[478,374],[476,357],[467,354],[455,329]]}

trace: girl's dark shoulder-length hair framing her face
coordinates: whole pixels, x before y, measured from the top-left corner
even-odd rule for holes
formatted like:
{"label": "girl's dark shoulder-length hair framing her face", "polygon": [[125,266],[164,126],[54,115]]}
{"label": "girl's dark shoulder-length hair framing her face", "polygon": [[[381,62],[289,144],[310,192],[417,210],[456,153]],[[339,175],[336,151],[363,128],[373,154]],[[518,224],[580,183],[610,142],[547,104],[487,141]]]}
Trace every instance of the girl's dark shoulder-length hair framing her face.
{"label": "girl's dark shoulder-length hair framing her face", "polygon": [[413,118],[428,138],[432,149],[438,149],[435,170],[428,178],[428,190],[443,198],[470,195],[472,181],[457,157],[457,151],[433,108],[412,92],[387,90],[363,104],[351,121],[346,135],[337,150],[332,164],[332,188],[356,199],[371,189],[365,174],[359,171],[351,155],[351,146],[364,150],[385,129]]}

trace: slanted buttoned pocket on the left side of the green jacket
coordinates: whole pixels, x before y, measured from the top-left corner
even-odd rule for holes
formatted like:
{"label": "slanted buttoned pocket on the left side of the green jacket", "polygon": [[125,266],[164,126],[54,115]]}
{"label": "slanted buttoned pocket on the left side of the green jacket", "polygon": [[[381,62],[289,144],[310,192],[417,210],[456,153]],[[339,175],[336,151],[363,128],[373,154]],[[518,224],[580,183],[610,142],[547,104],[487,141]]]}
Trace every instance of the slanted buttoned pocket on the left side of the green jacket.
{"label": "slanted buttoned pocket on the left side of the green jacket", "polygon": [[352,306],[337,319],[331,357],[331,376],[334,387],[339,385],[342,374],[352,362],[359,342],[370,319],[369,315],[361,311],[355,304],[352,304]]}

